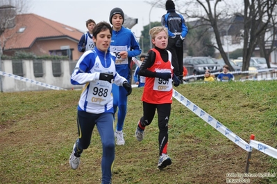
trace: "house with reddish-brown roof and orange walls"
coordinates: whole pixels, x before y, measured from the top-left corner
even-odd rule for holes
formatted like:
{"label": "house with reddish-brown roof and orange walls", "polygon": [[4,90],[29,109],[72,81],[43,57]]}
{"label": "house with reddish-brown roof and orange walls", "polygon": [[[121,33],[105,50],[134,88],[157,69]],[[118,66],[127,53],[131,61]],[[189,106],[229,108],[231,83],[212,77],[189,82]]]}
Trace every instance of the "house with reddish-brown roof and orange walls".
{"label": "house with reddish-brown roof and orange walls", "polygon": [[15,26],[1,35],[4,55],[17,50],[41,55],[64,55],[78,60],[78,42],[83,32],[35,14],[16,15]]}

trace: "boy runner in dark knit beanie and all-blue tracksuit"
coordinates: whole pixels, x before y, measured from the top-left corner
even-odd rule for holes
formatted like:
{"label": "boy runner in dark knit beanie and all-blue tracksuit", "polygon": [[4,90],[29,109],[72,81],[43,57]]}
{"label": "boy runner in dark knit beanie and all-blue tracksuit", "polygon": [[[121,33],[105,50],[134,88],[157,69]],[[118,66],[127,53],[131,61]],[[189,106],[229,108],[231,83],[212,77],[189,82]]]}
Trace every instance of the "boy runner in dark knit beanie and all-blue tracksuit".
{"label": "boy runner in dark knit beanie and all-blue tracksuit", "polygon": [[[124,28],[124,12],[121,8],[113,8],[110,11],[110,24],[112,24],[112,42],[110,52],[116,55],[115,68],[117,73],[131,82],[132,57],[140,55],[142,50],[137,42],[135,34],[128,28]],[[117,112],[117,127],[115,138],[117,145],[124,145],[123,125],[127,113],[126,90],[121,86],[112,86],[114,111]]]}

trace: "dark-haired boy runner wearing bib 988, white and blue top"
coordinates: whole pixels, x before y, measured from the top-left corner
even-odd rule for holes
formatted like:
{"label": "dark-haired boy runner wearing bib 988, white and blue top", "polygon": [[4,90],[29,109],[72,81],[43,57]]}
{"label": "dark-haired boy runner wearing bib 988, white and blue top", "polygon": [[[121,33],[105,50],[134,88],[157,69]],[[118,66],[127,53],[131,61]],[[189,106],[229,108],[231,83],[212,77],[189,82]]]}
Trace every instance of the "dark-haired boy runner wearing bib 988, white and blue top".
{"label": "dark-haired boy runner wearing bib 988, white and blue top", "polygon": [[78,138],[69,157],[69,164],[72,169],[78,168],[81,154],[89,147],[96,126],[103,147],[102,184],[112,183],[115,160],[112,82],[123,86],[126,95],[132,92],[132,86],[115,71],[115,55],[108,51],[111,37],[110,24],[96,24],[93,29],[94,50],[87,50],[81,56],[71,76],[72,84],[83,85],[83,91],[77,108]]}

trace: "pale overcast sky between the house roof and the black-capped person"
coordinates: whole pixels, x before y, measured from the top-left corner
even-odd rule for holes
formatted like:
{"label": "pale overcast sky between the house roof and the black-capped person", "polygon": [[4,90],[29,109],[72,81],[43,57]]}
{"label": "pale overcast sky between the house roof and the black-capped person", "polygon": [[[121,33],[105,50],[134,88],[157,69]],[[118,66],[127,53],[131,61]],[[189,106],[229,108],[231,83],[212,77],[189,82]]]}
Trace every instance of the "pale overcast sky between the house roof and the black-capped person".
{"label": "pale overcast sky between the house roof and the black-capped person", "polygon": [[[132,28],[137,37],[140,37],[143,26],[149,25],[149,12],[151,10],[151,5],[145,0],[28,0],[28,6],[28,13],[58,21],[84,32],[87,30],[85,26],[87,19],[94,19],[96,24],[99,21],[109,22],[110,10],[119,7],[128,17],[138,19],[138,23]],[[160,21],[165,13],[165,8],[153,7],[151,22]]]}

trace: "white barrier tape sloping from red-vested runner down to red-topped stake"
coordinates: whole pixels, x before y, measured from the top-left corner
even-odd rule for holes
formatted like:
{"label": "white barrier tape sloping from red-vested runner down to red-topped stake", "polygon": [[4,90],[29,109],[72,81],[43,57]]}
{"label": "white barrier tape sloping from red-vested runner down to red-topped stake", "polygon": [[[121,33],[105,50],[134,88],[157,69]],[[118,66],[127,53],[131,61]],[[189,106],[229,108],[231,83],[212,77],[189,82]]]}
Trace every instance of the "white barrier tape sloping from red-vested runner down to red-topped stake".
{"label": "white barrier tape sloping from red-vested runner down to red-topped stake", "polygon": [[[133,62],[135,62],[137,66],[141,65],[141,62],[137,60],[135,57],[133,57]],[[185,107],[187,107],[187,109],[190,109],[190,111],[192,111],[197,116],[202,118],[205,122],[208,122],[209,125],[211,125],[221,134],[226,136],[226,138],[235,142],[236,145],[238,145],[239,147],[241,147],[246,151],[251,151],[251,147],[247,142],[242,140],[242,138],[240,138],[239,136],[235,135],[232,131],[230,131],[230,129],[222,125],[218,120],[210,116],[208,113],[206,113],[201,108],[196,106],[196,104],[192,103],[190,100],[187,100],[187,98],[185,98],[183,95],[181,95],[181,93],[178,93],[178,91],[174,89],[173,89],[173,97],[179,102],[181,102],[181,104],[183,104]]]}

